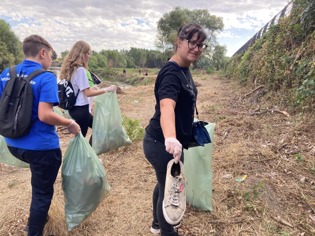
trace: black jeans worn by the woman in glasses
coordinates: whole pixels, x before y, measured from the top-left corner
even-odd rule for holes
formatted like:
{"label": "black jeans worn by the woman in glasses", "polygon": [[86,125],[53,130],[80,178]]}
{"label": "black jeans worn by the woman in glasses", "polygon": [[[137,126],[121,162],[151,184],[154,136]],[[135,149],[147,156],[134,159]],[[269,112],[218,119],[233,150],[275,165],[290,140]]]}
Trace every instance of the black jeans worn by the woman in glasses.
{"label": "black jeans worn by the woman in glasses", "polygon": [[[164,143],[157,141],[147,133],[143,137],[143,152],[146,159],[153,166],[157,177],[157,184],[153,190],[153,221],[159,223],[161,236],[176,235],[173,225],[166,222],[162,208],[167,164],[174,159],[173,154],[165,150]],[[184,152],[181,153],[180,161],[184,163]]]}

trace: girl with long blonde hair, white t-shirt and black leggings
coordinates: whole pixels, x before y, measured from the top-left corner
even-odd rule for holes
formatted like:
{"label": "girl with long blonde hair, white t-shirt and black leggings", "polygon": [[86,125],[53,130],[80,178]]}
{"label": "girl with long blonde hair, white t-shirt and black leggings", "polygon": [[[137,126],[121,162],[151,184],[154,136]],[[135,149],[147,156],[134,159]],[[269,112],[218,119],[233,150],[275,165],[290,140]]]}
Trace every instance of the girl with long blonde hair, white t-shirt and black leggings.
{"label": "girl with long blonde hair, white t-shirt and black leggings", "polygon": [[[115,85],[101,89],[96,86],[90,87],[85,70],[88,68],[90,54],[91,47],[88,43],[82,40],[76,42],[63,60],[60,71],[60,79],[70,81],[77,96],[76,104],[69,110],[69,115],[79,124],[84,137],[93,124],[93,115],[90,113],[93,97],[114,92],[116,89]],[[89,143],[92,145],[92,136]]]}

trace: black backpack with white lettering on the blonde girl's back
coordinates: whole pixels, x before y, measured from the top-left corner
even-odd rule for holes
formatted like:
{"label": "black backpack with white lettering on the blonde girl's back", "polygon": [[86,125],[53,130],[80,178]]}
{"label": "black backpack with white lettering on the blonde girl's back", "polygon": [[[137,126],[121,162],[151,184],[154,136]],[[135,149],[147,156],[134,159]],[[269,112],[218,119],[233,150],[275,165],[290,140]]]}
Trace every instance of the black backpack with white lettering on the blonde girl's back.
{"label": "black backpack with white lettering on the blonde girl's back", "polygon": [[[77,96],[79,94],[77,92]],[[74,95],[72,84],[66,79],[63,79],[58,83],[58,97],[59,97],[59,107],[64,110],[71,109],[74,104],[76,104],[77,96]]]}

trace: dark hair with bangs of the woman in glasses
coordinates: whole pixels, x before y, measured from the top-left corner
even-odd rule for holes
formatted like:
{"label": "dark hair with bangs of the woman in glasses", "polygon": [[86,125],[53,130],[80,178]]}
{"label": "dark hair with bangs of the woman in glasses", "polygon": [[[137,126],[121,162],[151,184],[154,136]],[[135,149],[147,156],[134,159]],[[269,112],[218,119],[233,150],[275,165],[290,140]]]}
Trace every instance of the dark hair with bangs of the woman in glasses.
{"label": "dark hair with bangs of the woman in glasses", "polygon": [[[179,27],[177,37],[180,39],[187,39],[190,40],[194,33],[198,33],[197,41],[205,41],[207,38],[207,34],[204,31],[203,27],[197,23],[189,23],[187,25],[181,25]],[[175,52],[177,51],[177,43],[175,45]]]}

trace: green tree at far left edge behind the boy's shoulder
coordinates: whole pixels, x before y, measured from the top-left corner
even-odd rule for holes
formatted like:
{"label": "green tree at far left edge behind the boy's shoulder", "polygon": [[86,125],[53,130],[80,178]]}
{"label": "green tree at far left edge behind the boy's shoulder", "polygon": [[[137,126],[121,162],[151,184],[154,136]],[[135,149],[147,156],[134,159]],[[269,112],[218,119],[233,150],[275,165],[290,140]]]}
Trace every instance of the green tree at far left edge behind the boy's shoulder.
{"label": "green tree at far left edge behind the boy's shoulder", "polygon": [[22,43],[9,23],[0,19],[0,72],[11,65],[17,65],[25,58]]}

